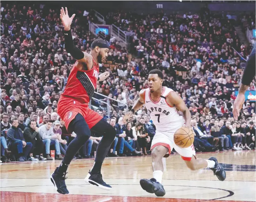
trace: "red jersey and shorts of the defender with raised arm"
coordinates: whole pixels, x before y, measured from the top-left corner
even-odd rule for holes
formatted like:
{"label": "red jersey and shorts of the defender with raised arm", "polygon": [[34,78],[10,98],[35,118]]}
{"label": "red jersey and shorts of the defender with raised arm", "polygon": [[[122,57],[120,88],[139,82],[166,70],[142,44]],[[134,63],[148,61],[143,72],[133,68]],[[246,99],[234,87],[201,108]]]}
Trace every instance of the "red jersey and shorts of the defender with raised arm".
{"label": "red jersey and shorts of the defender with raised arm", "polygon": [[88,107],[99,77],[99,65],[93,60],[92,69],[78,70],[76,63],[69,74],[64,93],[60,96],[57,111],[68,130],[70,122],[78,113],[91,129],[102,119],[102,116]]}

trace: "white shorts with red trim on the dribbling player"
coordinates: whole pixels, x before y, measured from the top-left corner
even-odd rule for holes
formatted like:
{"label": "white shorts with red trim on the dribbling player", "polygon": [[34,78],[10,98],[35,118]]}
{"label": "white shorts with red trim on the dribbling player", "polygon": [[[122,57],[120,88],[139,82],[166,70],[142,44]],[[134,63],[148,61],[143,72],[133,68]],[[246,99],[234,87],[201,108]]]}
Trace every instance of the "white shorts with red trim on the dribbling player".
{"label": "white shorts with red trim on the dribbling player", "polygon": [[168,152],[170,155],[171,151],[174,148],[175,151],[181,155],[181,158],[183,160],[190,161],[192,156],[196,155],[196,151],[194,150],[194,145],[192,144],[188,148],[180,148],[174,143],[173,135],[174,135],[174,133],[156,131],[156,134],[154,135],[154,138],[152,140],[150,150],[152,150],[156,146],[161,145],[161,146],[168,148]]}

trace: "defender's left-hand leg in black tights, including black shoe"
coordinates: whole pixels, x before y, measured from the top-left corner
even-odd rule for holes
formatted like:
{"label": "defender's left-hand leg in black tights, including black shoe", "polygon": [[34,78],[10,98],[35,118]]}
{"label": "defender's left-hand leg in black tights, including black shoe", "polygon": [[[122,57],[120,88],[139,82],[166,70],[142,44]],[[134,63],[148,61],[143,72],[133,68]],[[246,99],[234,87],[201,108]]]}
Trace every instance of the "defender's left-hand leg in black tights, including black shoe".
{"label": "defender's left-hand leg in black tights, including black shoe", "polygon": [[78,113],[76,117],[71,121],[68,131],[75,132],[76,138],[73,139],[71,143],[69,143],[62,163],[59,167],[57,167],[57,169],[55,169],[54,173],[51,176],[52,183],[54,184],[57,191],[61,194],[69,193],[65,184],[67,174],[66,171],[73,157],[90,138],[91,134],[88,124],[80,113]]}

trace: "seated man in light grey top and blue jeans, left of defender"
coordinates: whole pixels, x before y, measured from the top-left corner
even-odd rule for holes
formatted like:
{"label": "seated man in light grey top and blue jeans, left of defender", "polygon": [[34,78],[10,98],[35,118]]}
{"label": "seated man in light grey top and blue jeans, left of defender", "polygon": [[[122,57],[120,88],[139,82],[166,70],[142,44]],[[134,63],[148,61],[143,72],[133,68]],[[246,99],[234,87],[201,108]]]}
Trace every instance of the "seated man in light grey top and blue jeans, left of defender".
{"label": "seated man in light grey top and blue jeans, left of defender", "polygon": [[46,159],[53,160],[52,157],[50,157],[50,146],[55,145],[57,160],[62,160],[63,157],[60,154],[59,140],[58,140],[59,135],[55,135],[53,133],[52,120],[48,120],[45,125],[42,125],[39,127],[39,134],[43,139],[43,143],[45,145]]}

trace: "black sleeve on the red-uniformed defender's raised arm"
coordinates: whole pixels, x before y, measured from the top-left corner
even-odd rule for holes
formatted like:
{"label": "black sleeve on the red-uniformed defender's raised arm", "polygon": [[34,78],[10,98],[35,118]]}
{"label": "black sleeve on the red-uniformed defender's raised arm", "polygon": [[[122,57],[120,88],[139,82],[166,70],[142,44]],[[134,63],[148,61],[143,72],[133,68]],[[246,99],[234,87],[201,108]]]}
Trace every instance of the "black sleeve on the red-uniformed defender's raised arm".
{"label": "black sleeve on the red-uniformed defender's raised arm", "polygon": [[73,44],[73,38],[71,35],[71,30],[64,31],[64,39],[65,39],[65,48],[68,53],[76,60],[81,60],[84,57],[83,52]]}

